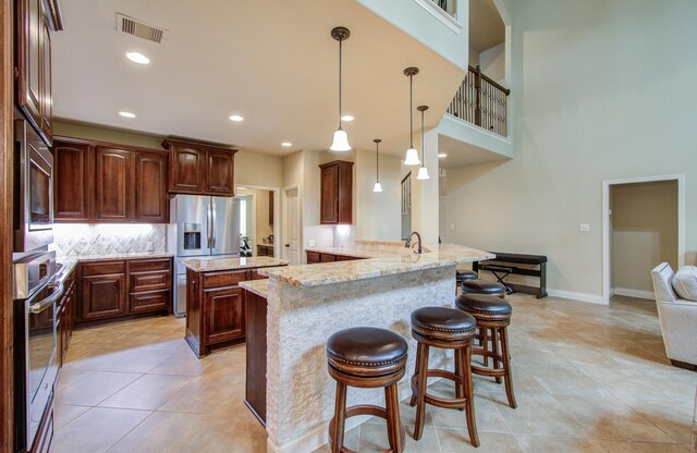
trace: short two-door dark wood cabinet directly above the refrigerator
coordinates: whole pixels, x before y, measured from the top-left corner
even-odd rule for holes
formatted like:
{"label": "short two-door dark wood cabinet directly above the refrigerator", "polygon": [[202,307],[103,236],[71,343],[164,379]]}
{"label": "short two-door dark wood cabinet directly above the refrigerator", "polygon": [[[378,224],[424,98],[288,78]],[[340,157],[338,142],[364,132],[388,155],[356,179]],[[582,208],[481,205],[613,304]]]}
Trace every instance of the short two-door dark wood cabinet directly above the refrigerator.
{"label": "short two-door dark wood cabinet directly above the refrigerator", "polygon": [[236,149],[167,138],[170,151],[169,192],[172,194],[232,196]]}

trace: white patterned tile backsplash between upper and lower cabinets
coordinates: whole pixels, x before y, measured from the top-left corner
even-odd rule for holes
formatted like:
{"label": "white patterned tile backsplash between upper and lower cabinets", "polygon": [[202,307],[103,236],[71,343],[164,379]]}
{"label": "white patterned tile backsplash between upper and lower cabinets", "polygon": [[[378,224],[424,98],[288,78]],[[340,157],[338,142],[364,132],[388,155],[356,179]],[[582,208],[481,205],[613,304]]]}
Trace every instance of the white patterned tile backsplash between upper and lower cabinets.
{"label": "white patterned tile backsplash between upper and lower cabinets", "polygon": [[[58,256],[164,252],[167,228],[160,224],[56,223],[53,245]],[[151,242],[151,248],[148,248]]]}

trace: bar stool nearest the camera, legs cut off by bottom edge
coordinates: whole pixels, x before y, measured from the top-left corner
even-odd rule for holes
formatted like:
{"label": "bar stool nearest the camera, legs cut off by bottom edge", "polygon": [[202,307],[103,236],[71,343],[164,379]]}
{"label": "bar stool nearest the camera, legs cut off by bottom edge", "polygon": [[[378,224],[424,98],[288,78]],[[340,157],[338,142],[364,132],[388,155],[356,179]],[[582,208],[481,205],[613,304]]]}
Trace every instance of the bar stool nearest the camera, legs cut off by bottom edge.
{"label": "bar stool nearest the camera, legs cut off by bottom edge", "polygon": [[[386,453],[404,451],[405,431],[400,419],[396,383],[406,369],[406,341],[396,333],[370,327],[340,330],[327,340],[329,375],[337,381],[334,417],[329,424],[332,453],[355,453],[344,446],[346,418],[372,415],[388,423],[390,449]],[[346,408],[346,388],[384,388],[386,407],[357,405]]]}

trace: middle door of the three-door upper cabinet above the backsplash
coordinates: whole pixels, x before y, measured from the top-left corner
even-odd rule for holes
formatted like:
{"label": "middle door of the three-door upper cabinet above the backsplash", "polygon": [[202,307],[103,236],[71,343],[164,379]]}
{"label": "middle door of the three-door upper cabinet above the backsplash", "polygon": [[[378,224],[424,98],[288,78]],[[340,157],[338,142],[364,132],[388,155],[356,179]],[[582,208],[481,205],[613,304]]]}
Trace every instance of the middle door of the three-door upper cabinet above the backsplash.
{"label": "middle door of the three-door upper cabinet above the backsplash", "polygon": [[95,158],[96,220],[134,220],[133,151],[98,146]]}

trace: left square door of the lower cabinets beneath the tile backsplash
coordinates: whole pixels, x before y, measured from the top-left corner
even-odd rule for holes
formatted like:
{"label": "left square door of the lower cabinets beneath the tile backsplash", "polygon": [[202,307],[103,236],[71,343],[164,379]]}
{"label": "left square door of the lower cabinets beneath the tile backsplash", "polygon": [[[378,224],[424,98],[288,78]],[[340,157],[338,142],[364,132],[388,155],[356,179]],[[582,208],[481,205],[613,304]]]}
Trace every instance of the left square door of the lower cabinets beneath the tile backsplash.
{"label": "left square door of the lower cabinets beneath the tile backsplash", "polygon": [[82,320],[126,315],[125,287],[125,273],[83,277]]}

